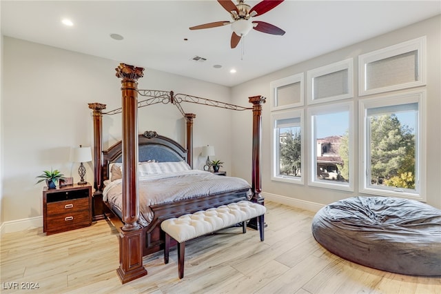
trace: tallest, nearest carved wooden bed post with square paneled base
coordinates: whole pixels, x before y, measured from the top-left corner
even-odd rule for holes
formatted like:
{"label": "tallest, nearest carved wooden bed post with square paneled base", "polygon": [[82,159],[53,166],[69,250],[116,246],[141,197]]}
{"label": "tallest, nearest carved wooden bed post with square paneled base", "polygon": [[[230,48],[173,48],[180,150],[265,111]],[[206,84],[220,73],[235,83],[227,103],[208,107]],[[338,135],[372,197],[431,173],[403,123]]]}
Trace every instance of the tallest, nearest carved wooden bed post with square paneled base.
{"label": "tallest, nearest carved wooden bed post with square paneled base", "polygon": [[116,77],[122,79],[123,119],[123,222],[119,234],[119,268],[121,282],[135,280],[147,271],[143,266],[143,231],[138,224],[138,82],[144,68],[120,63]]}

